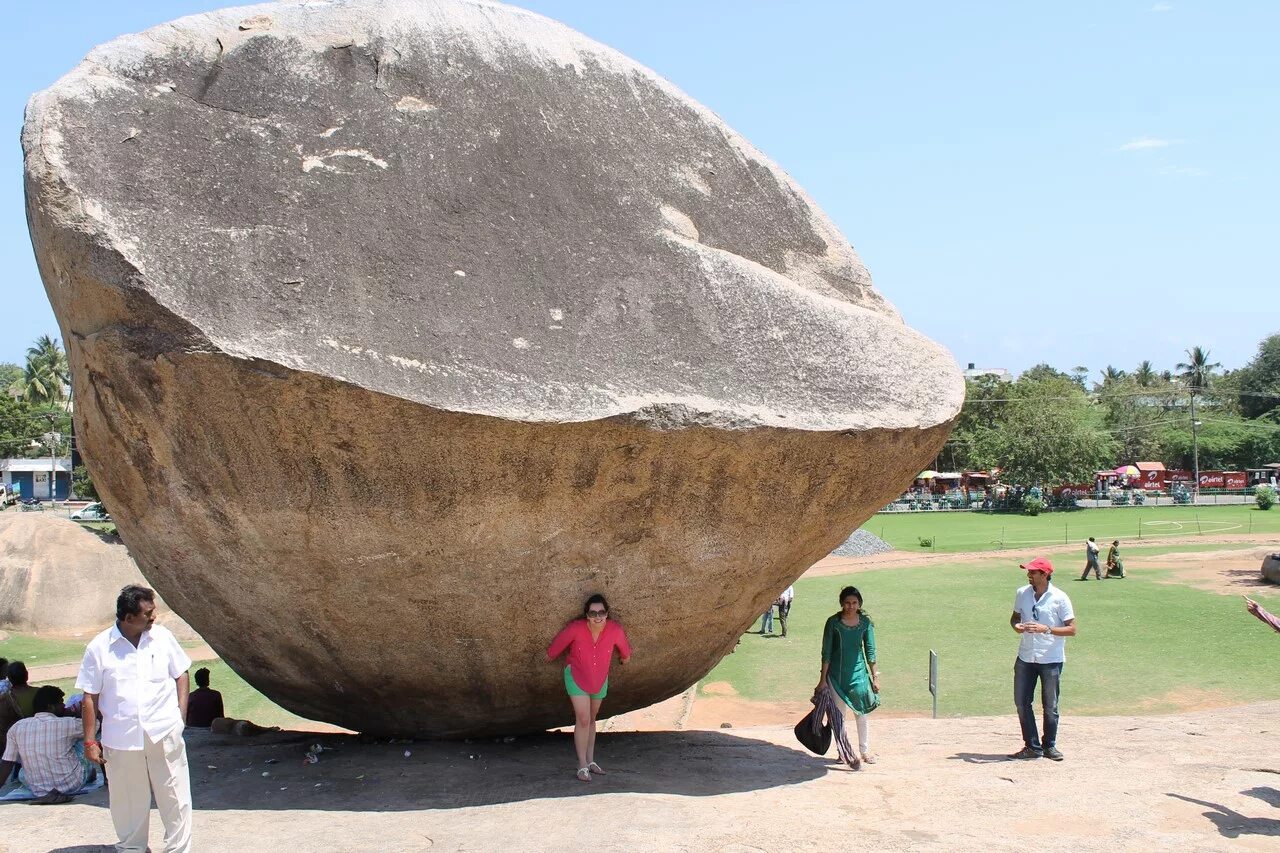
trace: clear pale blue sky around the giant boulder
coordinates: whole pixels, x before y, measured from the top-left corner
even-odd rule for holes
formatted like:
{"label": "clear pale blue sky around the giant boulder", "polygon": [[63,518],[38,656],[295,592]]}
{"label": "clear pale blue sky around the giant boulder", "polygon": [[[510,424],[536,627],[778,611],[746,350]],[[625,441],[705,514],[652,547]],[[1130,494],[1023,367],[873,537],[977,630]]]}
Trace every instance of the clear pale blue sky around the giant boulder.
{"label": "clear pale blue sky around the giant boulder", "polygon": [[[218,8],[6,15],[0,361],[56,334],[18,131],[95,45]],[[529,0],[719,113],[818,201],[908,323],[964,365],[1093,379],[1280,332],[1280,3]]]}

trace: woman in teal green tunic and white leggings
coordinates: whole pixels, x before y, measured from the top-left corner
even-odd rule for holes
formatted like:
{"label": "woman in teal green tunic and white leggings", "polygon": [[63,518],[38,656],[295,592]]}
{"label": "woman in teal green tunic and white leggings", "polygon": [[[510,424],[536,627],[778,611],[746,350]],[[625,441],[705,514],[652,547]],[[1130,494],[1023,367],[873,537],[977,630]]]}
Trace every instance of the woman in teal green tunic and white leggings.
{"label": "woman in teal green tunic and white leggings", "polygon": [[[863,594],[856,587],[840,590],[840,612],[822,629],[822,676],[818,690],[829,686],[858,725],[858,752],[869,765],[867,715],[879,707],[879,672],[876,669],[876,625],[863,611]],[[847,719],[847,713],[846,713]]]}

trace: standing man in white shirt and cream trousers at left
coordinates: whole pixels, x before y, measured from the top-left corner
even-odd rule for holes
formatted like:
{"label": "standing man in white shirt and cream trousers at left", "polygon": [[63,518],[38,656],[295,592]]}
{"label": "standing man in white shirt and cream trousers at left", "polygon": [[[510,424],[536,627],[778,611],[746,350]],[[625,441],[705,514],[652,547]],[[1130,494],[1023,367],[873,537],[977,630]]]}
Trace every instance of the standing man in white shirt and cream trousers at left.
{"label": "standing man in white shirt and cream trousers at left", "polygon": [[[131,584],[115,599],[115,625],[84,649],[76,686],[84,692],[84,756],[108,767],[116,850],[147,849],[155,795],[166,853],[191,850],[191,774],[182,739],[191,658],[155,624],[155,593]],[[93,739],[102,713],[102,743]]]}

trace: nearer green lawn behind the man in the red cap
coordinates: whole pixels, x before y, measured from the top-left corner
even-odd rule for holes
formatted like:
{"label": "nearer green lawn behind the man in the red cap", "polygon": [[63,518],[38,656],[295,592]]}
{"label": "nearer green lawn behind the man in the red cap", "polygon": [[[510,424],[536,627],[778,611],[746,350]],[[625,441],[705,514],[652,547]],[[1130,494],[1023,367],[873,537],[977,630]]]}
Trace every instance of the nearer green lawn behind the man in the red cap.
{"label": "nearer green lawn behind the man in the red cap", "polygon": [[[1244,612],[1239,597],[1157,583],[1144,570],[1124,580],[1061,587],[1080,634],[1066,643],[1062,708],[1119,715],[1175,711],[1181,694],[1228,703],[1280,698],[1280,635]],[[883,707],[928,712],[928,653],[940,656],[938,713],[1010,713],[1018,635],[1009,628],[1016,567],[983,564],[886,569],[796,583],[786,639],[746,634],[703,680],[728,681],[748,699],[806,699],[818,681],[820,629],[845,584],[856,585],[876,622]],[[1280,594],[1254,596],[1280,610]],[[1188,693],[1190,692],[1190,693]]]}

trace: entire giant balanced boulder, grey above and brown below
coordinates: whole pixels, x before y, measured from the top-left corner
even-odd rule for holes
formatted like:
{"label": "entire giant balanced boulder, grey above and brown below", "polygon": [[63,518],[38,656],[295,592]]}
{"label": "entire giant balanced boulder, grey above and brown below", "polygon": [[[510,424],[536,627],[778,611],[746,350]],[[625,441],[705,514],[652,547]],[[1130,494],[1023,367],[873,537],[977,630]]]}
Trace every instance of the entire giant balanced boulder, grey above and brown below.
{"label": "entire giant balanced boulder, grey above and brown below", "polygon": [[79,435],[140,566],[285,707],[570,721],[605,592],[680,692],[946,439],[963,380],[832,223],[652,72],[492,3],[282,3],[28,105]]}

